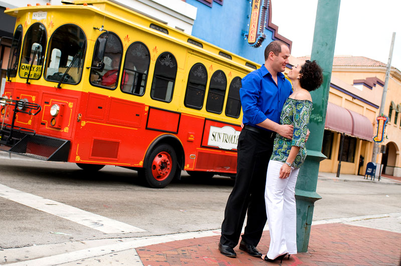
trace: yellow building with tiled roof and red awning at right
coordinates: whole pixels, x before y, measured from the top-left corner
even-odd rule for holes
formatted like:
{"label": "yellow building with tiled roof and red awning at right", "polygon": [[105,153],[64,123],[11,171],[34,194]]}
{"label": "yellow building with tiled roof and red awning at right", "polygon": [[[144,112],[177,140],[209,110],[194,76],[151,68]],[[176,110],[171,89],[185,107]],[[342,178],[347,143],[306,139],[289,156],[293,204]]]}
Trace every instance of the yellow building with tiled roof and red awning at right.
{"label": "yellow building with tiled roof and red awning at right", "polygon": [[[301,62],[308,57],[298,58]],[[295,61],[294,61],[295,64]],[[364,175],[372,161],[373,135],[376,134],[386,64],[365,58],[334,57],[322,153],[327,156],[319,171],[337,172],[341,150],[340,173]],[[384,115],[388,116],[387,136],[373,162],[387,175],[401,176],[401,72],[391,68]],[[380,145],[380,146],[381,146]]]}

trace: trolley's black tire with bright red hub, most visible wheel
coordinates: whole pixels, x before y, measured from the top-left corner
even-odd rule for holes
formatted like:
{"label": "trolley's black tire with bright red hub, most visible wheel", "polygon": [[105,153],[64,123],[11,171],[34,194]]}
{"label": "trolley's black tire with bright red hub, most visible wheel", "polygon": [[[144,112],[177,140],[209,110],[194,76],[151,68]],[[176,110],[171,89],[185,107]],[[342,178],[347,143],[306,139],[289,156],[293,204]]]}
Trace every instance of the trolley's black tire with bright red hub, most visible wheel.
{"label": "trolley's black tire with bright red hub, most visible wheel", "polygon": [[174,149],[168,144],[161,144],[153,148],[147,156],[138,175],[149,187],[163,188],[174,178],[176,169],[177,156]]}

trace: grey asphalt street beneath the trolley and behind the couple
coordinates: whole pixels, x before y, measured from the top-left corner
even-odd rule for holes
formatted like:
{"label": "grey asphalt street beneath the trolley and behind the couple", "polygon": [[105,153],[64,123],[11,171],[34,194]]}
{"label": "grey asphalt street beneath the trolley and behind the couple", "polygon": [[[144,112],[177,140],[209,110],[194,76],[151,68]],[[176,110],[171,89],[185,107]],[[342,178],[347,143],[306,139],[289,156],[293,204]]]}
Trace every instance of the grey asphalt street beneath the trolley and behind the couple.
{"label": "grey asphalt street beneath the trolley and behind the couple", "polygon": [[[120,167],[106,166],[88,174],[71,163],[0,156],[0,255],[7,258],[3,263],[50,255],[63,257],[58,264],[70,263],[74,260],[66,257],[71,252],[76,255],[90,248],[83,257],[93,258],[108,254],[106,247],[121,251],[121,259],[132,258],[132,248],[138,246],[219,234],[234,184],[227,177],[199,180],[183,172],[181,181],[151,189],[135,171]],[[341,222],[401,233],[400,188],[401,182],[387,178],[370,181],[363,176],[319,173],[317,192],[322,199],[315,202],[313,224]],[[34,200],[21,203],[25,197]],[[32,206],[32,201],[42,200],[50,201]],[[75,220],[67,211],[75,213]],[[77,219],[76,213],[83,216]],[[82,222],[91,219],[107,220],[112,228],[126,231],[104,232]]]}

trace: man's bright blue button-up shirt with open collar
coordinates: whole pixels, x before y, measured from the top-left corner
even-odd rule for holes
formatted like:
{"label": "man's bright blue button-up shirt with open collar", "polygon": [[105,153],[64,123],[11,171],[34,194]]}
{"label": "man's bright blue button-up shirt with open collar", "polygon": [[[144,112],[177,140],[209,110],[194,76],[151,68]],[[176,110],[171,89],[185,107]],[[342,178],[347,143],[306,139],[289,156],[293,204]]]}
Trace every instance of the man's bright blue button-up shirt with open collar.
{"label": "man's bright blue button-up shirt with open collar", "polygon": [[258,127],[256,124],[265,121],[266,118],[280,123],[281,109],[292,90],[291,83],[284,74],[277,73],[276,84],[265,65],[262,65],[260,69],[245,76],[241,82],[244,125]]}

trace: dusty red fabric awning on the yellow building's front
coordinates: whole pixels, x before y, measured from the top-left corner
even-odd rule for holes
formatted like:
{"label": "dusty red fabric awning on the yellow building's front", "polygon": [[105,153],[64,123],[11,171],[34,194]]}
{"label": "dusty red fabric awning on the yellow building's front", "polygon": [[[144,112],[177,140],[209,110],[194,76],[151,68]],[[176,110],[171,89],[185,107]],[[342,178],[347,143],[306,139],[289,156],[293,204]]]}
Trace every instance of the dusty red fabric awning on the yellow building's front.
{"label": "dusty red fabric awning on the yellow building's front", "polygon": [[373,126],[366,116],[327,103],[325,129],[372,141]]}

